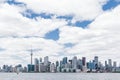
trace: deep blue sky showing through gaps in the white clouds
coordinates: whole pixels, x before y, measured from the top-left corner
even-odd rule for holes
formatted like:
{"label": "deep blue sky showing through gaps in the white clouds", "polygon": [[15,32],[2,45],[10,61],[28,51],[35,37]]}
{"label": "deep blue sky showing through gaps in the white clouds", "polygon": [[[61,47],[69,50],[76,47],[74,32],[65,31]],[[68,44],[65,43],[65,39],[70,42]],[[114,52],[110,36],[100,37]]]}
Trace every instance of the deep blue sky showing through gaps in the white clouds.
{"label": "deep blue sky showing through gaps in the white clouds", "polygon": [[[19,2],[19,1],[15,1],[15,0],[8,0],[7,2],[10,5],[25,5],[26,6],[25,3]],[[102,9],[104,11],[110,10],[110,9],[115,8],[119,4],[120,4],[120,1],[117,1],[117,0],[108,0],[107,3],[102,6]],[[51,19],[52,16],[54,16],[54,14],[35,13],[31,9],[27,9],[26,13],[28,13],[28,14],[22,13],[22,15],[25,16],[25,17],[27,17],[27,18],[35,19],[35,20],[36,20],[36,17],[42,17],[44,19]],[[67,16],[58,16],[57,18],[58,19],[68,20],[69,21],[68,25],[70,25],[70,26],[77,26],[77,27],[82,27],[82,28],[87,28],[87,25],[89,25],[94,20],[93,19],[93,20],[76,21],[75,23],[71,23],[71,20],[72,20],[73,16],[68,16],[68,15]],[[53,31],[47,33],[46,36],[45,36],[45,38],[46,39],[57,40],[59,38],[59,30],[56,29],[56,30],[53,30]]]}

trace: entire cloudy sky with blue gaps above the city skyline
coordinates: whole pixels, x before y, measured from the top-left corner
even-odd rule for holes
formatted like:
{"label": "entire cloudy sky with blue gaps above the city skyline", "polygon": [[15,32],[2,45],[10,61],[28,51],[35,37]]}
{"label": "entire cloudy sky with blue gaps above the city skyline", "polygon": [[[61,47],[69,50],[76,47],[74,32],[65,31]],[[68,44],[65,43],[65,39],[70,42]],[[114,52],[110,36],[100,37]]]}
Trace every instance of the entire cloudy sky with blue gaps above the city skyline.
{"label": "entire cloudy sky with blue gaps above the city skyline", "polygon": [[120,0],[0,0],[0,65],[86,57],[120,62]]}

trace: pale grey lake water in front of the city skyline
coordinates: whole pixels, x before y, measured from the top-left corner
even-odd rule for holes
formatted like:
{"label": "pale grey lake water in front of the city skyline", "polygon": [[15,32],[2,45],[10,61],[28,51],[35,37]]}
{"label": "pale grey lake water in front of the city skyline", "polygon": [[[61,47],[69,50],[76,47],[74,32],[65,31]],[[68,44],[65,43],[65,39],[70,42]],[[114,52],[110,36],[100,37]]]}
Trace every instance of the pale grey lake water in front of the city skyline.
{"label": "pale grey lake water in front of the city skyline", "polygon": [[0,80],[120,80],[120,73],[0,73]]}

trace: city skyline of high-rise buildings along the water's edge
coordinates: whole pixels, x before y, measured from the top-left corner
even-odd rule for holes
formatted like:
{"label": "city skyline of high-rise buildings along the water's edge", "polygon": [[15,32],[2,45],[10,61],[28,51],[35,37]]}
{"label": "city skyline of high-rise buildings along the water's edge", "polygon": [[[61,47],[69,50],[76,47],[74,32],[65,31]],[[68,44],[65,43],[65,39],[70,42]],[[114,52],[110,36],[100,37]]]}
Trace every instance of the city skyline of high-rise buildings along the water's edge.
{"label": "city skyline of high-rise buildings along the water's edge", "polygon": [[[51,62],[48,56],[44,58],[34,58],[30,55],[30,63],[23,66],[22,64],[7,65],[4,64],[0,67],[0,72],[25,72],[25,73],[119,73],[120,65],[118,62],[108,59],[102,63],[99,60],[99,56],[94,56],[93,59],[87,60],[86,57],[79,58],[77,56],[69,59],[68,57],[63,57],[61,60]],[[34,61],[34,63],[32,62]]]}

